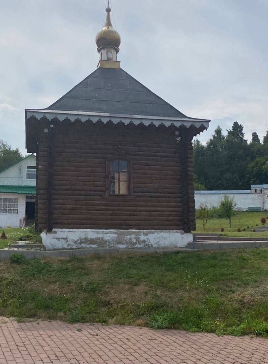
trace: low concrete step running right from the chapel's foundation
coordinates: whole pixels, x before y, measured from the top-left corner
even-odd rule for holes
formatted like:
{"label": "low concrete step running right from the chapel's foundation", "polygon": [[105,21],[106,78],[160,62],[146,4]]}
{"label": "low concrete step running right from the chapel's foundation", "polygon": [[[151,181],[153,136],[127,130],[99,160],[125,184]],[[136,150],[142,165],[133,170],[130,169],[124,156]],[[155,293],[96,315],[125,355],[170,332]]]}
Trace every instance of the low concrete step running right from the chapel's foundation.
{"label": "low concrete step running right from the chapel's foundation", "polygon": [[268,248],[268,241],[196,241],[187,244],[187,248],[197,250]]}

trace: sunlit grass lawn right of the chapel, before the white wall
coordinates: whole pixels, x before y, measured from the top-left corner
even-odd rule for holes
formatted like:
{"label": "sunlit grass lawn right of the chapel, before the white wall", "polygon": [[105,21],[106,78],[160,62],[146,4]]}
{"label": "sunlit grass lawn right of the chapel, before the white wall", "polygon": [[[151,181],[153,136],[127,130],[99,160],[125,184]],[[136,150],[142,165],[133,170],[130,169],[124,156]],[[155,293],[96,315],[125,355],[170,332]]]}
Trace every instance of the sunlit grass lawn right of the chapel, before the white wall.
{"label": "sunlit grass lawn right of the chapel, before the white wall", "polygon": [[[229,227],[229,222],[225,218],[211,218],[208,220],[203,229],[202,220],[196,219],[196,232],[198,233],[221,233],[221,227],[224,227],[225,236],[244,236],[244,237],[256,237],[256,238],[268,238],[268,231],[266,232],[252,232],[257,226],[262,226],[260,219],[262,217],[268,217],[268,211],[261,212],[247,212],[242,211],[239,215],[232,217],[232,227]],[[268,219],[267,219],[268,225]],[[248,229],[249,226],[249,229]],[[237,232],[240,228],[242,231]],[[243,231],[245,229],[245,231]],[[196,233],[195,232],[195,233]]]}

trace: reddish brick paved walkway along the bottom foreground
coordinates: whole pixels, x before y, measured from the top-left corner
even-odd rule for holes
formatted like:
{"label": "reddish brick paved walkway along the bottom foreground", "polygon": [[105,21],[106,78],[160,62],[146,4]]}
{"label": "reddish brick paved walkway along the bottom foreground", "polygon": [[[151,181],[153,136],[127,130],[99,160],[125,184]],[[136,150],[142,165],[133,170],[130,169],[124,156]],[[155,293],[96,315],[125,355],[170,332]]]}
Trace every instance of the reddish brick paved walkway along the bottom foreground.
{"label": "reddish brick paved walkway along the bottom foreground", "polygon": [[267,344],[260,338],[0,317],[2,364],[262,364],[268,363]]}

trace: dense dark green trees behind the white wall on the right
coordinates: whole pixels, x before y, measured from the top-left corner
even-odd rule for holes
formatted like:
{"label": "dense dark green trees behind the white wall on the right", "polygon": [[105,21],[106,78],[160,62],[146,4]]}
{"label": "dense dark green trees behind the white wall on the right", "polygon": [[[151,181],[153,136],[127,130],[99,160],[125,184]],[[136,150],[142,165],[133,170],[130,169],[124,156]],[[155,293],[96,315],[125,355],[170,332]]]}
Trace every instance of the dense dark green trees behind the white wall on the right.
{"label": "dense dark green trees behind the white wall on the right", "polygon": [[218,126],[206,144],[194,141],[196,189],[199,188],[197,182],[207,190],[248,190],[253,182],[267,183],[263,165],[268,156],[268,131],[263,144],[256,132],[248,143],[244,139],[243,125],[237,121],[227,132],[225,137]]}

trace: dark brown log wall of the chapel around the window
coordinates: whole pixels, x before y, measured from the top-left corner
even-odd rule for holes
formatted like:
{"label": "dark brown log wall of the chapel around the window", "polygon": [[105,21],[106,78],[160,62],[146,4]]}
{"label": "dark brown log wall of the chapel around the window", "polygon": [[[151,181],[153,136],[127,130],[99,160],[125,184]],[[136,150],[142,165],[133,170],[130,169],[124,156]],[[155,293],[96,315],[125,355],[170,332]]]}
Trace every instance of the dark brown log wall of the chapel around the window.
{"label": "dark brown log wall of the chapel around the window", "polygon": [[[48,135],[40,123],[40,231],[195,227],[192,142],[178,144],[175,128],[53,123]],[[133,196],[105,196],[105,161],[116,153],[132,160]]]}

